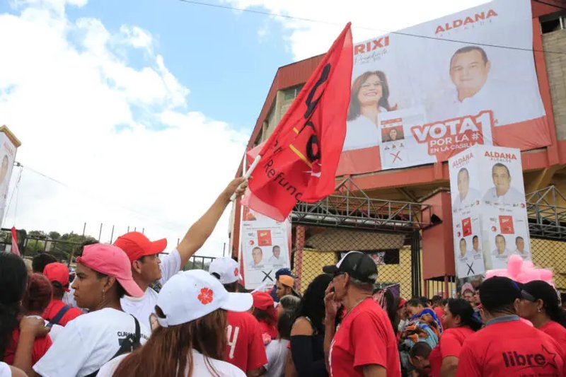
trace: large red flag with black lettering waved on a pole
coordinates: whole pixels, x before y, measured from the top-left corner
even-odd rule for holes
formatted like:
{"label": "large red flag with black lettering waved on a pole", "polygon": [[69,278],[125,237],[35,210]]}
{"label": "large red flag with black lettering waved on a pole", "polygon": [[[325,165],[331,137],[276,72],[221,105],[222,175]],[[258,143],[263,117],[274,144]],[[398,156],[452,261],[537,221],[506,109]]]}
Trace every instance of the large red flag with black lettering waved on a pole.
{"label": "large red flag with black lettering waved on a pole", "polygon": [[297,201],[317,202],[334,192],[351,79],[348,23],[263,145],[249,182],[250,208],[283,221]]}

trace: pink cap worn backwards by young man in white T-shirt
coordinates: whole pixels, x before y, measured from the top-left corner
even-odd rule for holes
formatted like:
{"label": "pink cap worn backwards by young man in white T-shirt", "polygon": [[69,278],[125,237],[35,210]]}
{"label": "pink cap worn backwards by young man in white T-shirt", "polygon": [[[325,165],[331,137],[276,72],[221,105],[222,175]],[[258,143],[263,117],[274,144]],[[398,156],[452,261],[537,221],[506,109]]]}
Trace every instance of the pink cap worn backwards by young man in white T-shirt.
{"label": "pink cap worn backwards by young man in white T-shirt", "polygon": [[115,277],[129,296],[144,296],[144,291],[132,278],[132,265],[122,249],[106,243],[86,245],[83,255],[77,257],[76,262],[101,274]]}

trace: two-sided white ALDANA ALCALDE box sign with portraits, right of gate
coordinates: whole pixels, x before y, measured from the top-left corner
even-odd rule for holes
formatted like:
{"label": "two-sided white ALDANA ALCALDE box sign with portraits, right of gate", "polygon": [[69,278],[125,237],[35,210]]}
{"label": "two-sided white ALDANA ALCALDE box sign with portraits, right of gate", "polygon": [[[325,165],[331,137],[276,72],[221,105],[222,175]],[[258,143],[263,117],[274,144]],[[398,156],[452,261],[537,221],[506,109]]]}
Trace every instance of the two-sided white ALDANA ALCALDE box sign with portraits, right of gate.
{"label": "two-sided white ALDANA ALCALDE box sign with portraits, right of gate", "polygon": [[474,146],[450,158],[449,169],[458,278],[506,268],[513,254],[531,260],[521,151]]}

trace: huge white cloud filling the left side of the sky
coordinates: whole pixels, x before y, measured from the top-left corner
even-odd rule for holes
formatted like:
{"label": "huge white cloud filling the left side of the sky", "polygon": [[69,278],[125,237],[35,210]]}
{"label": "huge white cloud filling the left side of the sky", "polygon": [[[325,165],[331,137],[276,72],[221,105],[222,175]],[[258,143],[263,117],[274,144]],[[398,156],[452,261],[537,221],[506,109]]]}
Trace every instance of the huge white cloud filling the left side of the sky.
{"label": "huge white cloud filling the left side of the sky", "polygon": [[[231,180],[248,135],[185,110],[190,91],[148,31],[69,21],[64,6],[85,2],[18,1],[17,16],[0,15],[12,36],[0,38],[0,124],[23,142],[17,161],[65,184],[24,169],[4,226],[81,233],[87,222],[98,237],[103,223],[102,240],[135,226],[174,245]],[[145,66],[124,49],[143,49]],[[201,254],[221,253],[228,215]]]}

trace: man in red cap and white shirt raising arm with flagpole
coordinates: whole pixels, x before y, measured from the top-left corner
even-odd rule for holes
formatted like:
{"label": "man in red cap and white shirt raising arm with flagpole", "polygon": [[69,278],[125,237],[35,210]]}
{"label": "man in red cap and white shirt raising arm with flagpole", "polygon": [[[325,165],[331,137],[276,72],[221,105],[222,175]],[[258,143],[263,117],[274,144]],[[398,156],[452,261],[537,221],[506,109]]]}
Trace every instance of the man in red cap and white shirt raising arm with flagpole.
{"label": "man in red cap and white shirt raising arm with flagpole", "polygon": [[[241,187],[239,187],[242,185]],[[165,238],[151,241],[144,234],[129,232],[120,236],[114,245],[125,251],[132,263],[132,275],[144,296],[132,298],[124,296],[120,300],[122,309],[134,315],[140,323],[151,327],[150,316],[155,311],[157,292],[150,287],[156,281],[165,284],[174,274],[180,271],[188,260],[199,250],[209,238],[224,209],[230,203],[230,197],[236,193],[240,196],[246,190],[243,178],[232,180],[219,195],[212,206],[189,228],[180,244],[171,253],[160,258],[159,253],[167,246]]]}

